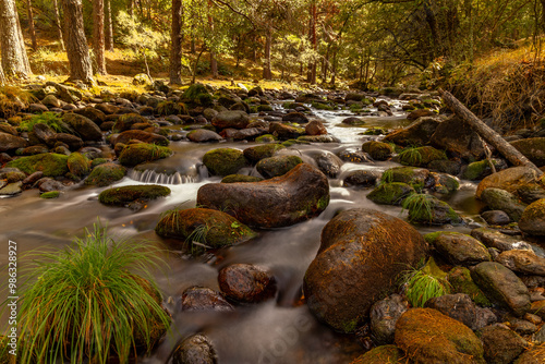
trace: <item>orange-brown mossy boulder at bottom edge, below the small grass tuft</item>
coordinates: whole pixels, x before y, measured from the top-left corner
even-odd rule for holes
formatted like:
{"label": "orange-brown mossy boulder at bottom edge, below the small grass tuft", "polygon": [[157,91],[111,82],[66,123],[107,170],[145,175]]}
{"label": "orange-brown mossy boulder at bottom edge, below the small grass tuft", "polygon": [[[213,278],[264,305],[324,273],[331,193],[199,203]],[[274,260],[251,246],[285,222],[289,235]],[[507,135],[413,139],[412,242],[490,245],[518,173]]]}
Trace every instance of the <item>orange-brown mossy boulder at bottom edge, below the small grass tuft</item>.
{"label": "orange-brown mossy boulder at bottom edge, below the small grass tuft", "polygon": [[486,363],[475,333],[433,308],[407,311],[396,325],[396,344],[414,364]]}

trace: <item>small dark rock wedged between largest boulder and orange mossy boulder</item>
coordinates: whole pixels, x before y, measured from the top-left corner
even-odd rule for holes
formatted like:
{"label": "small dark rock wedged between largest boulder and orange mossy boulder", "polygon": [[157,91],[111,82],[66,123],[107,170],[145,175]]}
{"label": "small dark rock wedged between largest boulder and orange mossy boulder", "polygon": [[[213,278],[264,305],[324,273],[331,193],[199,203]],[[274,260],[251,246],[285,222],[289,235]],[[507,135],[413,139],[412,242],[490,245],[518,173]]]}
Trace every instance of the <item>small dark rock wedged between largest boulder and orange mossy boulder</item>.
{"label": "small dark rock wedged between largest boulder and orange mossy boulder", "polygon": [[373,304],[371,307],[371,331],[378,344],[393,342],[396,323],[409,310],[409,303],[399,294],[392,294]]}

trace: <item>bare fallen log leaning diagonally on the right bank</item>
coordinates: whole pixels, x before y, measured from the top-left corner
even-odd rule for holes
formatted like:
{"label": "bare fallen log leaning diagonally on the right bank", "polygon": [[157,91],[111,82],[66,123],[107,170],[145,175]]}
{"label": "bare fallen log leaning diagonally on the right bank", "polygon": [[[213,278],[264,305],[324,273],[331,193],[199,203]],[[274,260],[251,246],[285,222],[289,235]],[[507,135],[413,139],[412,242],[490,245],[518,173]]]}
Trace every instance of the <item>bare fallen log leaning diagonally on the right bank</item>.
{"label": "bare fallen log leaning diagonally on the right bank", "polygon": [[543,171],[538,169],[534,163],[532,163],[522,153],[517,150],[510,143],[496,133],[492,128],[486,125],[481,119],[479,119],[473,112],[471,112],[462,102],[460,102],[452,94],[439,88],[439,94],[443,97],[445,104],[452,110],[453,113],[468,124],[483,138],[486,143],[495,147],[504,157],[507,158],[512,165],[519,167],[530,167],[534,169],[538,175],[543,174]]}

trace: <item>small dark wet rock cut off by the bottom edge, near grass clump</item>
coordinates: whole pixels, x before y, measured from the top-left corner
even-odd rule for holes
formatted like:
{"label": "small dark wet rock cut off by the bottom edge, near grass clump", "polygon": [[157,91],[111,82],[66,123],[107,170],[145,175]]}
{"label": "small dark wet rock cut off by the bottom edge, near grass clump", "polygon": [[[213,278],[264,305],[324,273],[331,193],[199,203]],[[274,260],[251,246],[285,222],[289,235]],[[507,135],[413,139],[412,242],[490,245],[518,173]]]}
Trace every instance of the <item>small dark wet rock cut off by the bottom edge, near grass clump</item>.
{"label": "small dark wet rock cut off by the bottom edge, near grass clump", "polygon": [[183,340],[172,353],[172,364],[217,364],[218,355],[208,338],[198,333]]}

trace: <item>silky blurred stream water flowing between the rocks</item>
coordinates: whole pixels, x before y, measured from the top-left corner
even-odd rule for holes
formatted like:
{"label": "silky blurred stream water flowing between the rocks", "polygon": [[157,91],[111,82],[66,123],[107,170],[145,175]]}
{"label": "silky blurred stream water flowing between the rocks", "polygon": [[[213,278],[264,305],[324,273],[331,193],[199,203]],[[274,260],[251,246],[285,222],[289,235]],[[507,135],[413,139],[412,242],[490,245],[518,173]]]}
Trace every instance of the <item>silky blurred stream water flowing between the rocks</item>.
{"label": "silky blurred stream water flowing between the rocks", "polygon": [[[399,106],[399,105],[398,105]],[[315,111],[325,122],[330,134],[341,143],[319,145],[295,145],[283,153],[300,155],[314,163],[311,156],[329,150],[358,149],[370,125],[393,128],[408,122],[402,112],[393,117],[366,117],[365,128],[347,128],[342,119],[352,116],[347,111]],[[24,268],[24,253],[33,250],[59,250],[82,236],[85,228],[100,219],[112,234],[131,239],[148,240],[150,244],[164,246],[154,228],[160,214],[175,206],[194,207],[198,189],[219,178],[209,178],[202,166],[203,155],[217,147],[246,148],[254,143],[195,144],[173,142],[174,155],[131,171],[114,186],[143,183],[160,183],[172,190],[170,196],[150,202],[141,210],[107,207],[97,202],[105,189],[78,185],[62,193],[57,199],[38,198],[36,190],[23,192],[14,198],[0,199],[0,265],[8,264],[8,241],[17,244],[19,268]],[[398,166],[395,162],[352,163],[346,162],[339,179],[330,179],[330,204],[317,218],[293,227],[262,231],[259,238],[220,250],[213,256],[190,258],[183,252],[170,251],[162,258],[168,263],[167,271],[156,272],[166,298],[175,298],[193,286],[208,287],[219,291],[218,271],[230,264],[250,263],[265,267],[274,274],[278,293],[275,300],[257,305],[238,306],[232,313],[182,313],[174,312],[172,333],[167,337],[152,357],[143,363],[166,363],[175,343],[196,332],[211,340],[220,363],[347,363],[361,352],[354,338],[341,336],[319,324],[305,304],[299,303],[305,270],[319,246],[322,228],[339,209],[366,207],[405,218],[400,207],[375,205],[365,196],[368,189],[347,189],[342,178],[355,169],[385,170]],[[249,174],[255,173],[247,169]],[[463,182],[459,192],[448,196],[448,202],[470,219],[476,218],[480,205],[473,198],[475,184]],[[467,227],[451,228],[469,231]],[[421,228],[422,232],[437,230]],[[1,281],[7,280],[2,270]],[[5,298],[2,292],[0,301]],[[174,307],[171,304],[172,308]],[[174,308],[173,308],[174,310]],[[7,321],[2,316],[1,324]]]}

